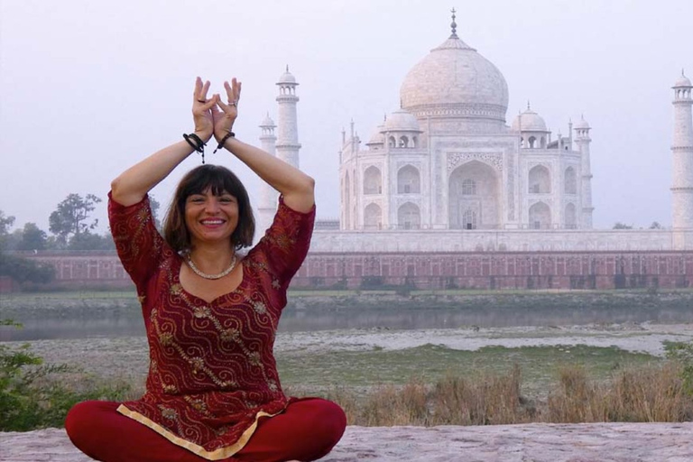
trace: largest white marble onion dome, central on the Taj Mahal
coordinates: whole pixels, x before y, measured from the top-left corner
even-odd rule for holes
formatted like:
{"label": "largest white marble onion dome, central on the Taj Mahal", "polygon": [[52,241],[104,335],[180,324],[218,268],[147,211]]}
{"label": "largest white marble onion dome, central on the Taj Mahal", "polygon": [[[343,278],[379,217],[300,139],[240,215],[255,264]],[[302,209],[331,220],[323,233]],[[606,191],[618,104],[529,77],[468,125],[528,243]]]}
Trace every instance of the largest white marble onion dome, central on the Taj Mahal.
{"label": "largest white marble onion dome, central on the Taj Mahal", "polygon": [[460,115],[504,123],[508,84],[491,61],[453,33],[411,68],[400,97],[402,107],[418,116]]}

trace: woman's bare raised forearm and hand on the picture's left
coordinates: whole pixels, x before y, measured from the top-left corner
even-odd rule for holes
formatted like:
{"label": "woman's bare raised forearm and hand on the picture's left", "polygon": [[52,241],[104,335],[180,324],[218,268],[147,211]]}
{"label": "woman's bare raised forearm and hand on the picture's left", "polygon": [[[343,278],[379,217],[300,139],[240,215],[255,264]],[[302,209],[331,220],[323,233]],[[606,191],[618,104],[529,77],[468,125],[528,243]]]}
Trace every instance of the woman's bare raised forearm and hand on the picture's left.
{"label": "woman's bare raised forearm and hand on the picture's left", "polygon": [[[214,130],[211,108],[217,105],[218,100],[218,95],[207,99],[208,89],[208,81],[203,84],[202,79],[196,79],[192,102],[194,133],[205,143],[211,138]],[[154,152],[111,182],[111,197],[123,206],[136,204],[193,151],[188,142],[181,140]]]}

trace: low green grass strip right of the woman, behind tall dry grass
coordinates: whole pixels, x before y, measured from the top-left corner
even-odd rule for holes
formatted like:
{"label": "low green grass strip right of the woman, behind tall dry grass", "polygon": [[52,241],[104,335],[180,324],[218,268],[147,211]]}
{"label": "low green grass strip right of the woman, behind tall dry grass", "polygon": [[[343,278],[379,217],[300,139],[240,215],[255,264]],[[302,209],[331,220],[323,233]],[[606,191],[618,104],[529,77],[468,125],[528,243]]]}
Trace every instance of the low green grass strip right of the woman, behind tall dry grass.
{"label": "low green grass strip right of the woman, behind tall dry grass", "polygon": [[517,364],[528,391],[541,391],[556,383],[566,365],[583,365],[590,378],[606,380],[629,365],[645,365],[661,358],[631,353],[616,347],[484,347],[477,351],[454,350],[436,345],[385,351],[324,354],[291,353],[277,358],[282,383],[289,386],[367,387],[383,383],[402,385],[418,377],[435,383],[448,374],[473,378],[484,373],[504,373]]}

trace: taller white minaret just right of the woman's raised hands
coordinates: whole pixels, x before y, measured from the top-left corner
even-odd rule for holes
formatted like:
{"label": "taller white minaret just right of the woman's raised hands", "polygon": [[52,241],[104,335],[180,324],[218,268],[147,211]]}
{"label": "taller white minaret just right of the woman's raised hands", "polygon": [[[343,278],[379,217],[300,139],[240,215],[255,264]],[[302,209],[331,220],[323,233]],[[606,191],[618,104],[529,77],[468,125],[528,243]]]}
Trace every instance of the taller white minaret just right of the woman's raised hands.
{"label": "taller white minaret just right of the woman's raised hands", "polygon": [[299,168],[299,125],[296,115],[296,103],[299,102],[299,97],[296,96],[296,78],[289,72],[289,66],[286,67],[286,72],[279,78],[277,86],[279,87],[279,129],[277,133],[277,157],[282,161]]}

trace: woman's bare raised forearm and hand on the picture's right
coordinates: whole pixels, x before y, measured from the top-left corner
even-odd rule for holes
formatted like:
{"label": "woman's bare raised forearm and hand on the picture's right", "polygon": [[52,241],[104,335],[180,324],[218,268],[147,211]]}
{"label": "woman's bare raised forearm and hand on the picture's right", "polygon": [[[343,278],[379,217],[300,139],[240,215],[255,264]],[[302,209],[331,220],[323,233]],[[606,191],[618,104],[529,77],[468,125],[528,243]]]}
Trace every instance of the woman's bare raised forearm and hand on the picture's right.
{"label": "woman's bare raised forearm and hand on the picture's right", "polygon": [[284,198],[284,204],[298,212],[308,212],[315,204],[315,180],[286,162],[274,157],[262,149],[229,136],[238,115],[238,99],[241,96],[241,83],[236,79],[231,84],[224,82],[228,104],[221,101],[218,95],[217,107],[212,107],[214,118],[214,137],[217,142],[223,141],[223,146],[244,162],[261,179],[277,189]]}

